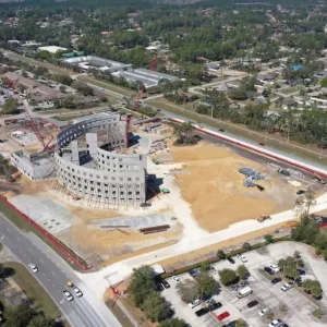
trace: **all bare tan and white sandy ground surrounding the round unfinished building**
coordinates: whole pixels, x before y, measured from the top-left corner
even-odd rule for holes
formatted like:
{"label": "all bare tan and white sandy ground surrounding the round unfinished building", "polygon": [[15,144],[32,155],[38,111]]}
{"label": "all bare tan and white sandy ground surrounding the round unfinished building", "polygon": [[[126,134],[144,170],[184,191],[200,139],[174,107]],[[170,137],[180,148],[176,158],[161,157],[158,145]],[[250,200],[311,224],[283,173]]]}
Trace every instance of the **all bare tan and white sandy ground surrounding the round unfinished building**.
{"label": "all bare tan and white sandy ground surrounding the round unfinished building", "polygon": [[[92,228],[89,223],[94,220],[140,215],[142,211],[82,207],[78,202],[72,203],[50,191],[48,182],[35,182],[23,177],[23,194],[46,194],[53,202],[64,204],[73,218],[70,221],[73,226],[63,241],[68,241],[82,256],[100,256],[102,266],[172,245],[181,238],[196,238],[225,229],[237,221],[281,211],[294,203],[290,196],[294,193],[293,186],[274,178],[272,171],[265,165],[245,159],[229,148],[202,142],[196,146],[170,145],[170,149],[173,162],[159,166],[149,164],[149,172],[164,177],[164,186],[169,187],[171,194],[156,198],[148,211],[168,210],[180,221],[178,227],[168,232],[143,235],[133,230],[128,230],[129,234],[124,234],[119,230],[106,232]],[[181,165],[186,173],[165,178],[171,167]],[[243,186],[244,175],[238,172],[241,167],[255,167],[262,173],[272,173],[271,183],[262,182],[266,191]]]}

